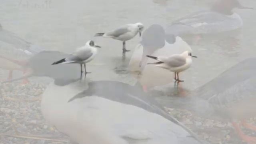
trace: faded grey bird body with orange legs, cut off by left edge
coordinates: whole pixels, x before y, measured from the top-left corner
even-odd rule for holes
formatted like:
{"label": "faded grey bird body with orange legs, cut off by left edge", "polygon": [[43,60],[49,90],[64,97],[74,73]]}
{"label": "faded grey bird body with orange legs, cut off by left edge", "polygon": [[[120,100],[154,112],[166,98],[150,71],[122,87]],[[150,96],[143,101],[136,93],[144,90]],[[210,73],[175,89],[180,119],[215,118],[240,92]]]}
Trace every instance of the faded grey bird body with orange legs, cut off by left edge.
{"label": "faded grey bird body with orange legs, cut off by left edge", "polygon": [[[44,51],[44,48],[27,42],[13,32],[5,30],[2,25],[0,25],[0,43],[0,68],[9,70],[9,80],[12,79],[13,70],[20,70],[26,75],[28,59]],[[23,83],[27,82],[28,80],[24,79]]]}

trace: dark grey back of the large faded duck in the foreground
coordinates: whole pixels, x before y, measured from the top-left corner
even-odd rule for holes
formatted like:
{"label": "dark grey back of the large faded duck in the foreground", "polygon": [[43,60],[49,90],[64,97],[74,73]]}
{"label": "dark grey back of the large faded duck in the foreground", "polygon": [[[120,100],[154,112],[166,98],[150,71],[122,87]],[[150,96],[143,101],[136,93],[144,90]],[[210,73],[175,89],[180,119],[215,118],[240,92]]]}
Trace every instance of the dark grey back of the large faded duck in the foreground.
{"label": "dark grey back of the large faded duck in the foreground", "polygon": [[[196,134],[194,134],[191,130],[186,128],[182,123],[180,123],[176,118],[172,117],[168,113],[164,111],[164,108],[153,97],[147,95],[143,92],[140,87],[130,86],[129,84],[125,84],[122,82],[114,82],[114,81],[98,81],[98,82],[89,82],[88,89],[80,92],[73,98],[71,98],[68,102],[72,102],[77,98],[84,98],[88,96],[100,96],[102,98],[106,98],[108,100],[120,102],[123,104],[133,105],[149,112],[158,114],[171,122],[181,126],[191,135],[186,138],[180,138],[180,144],[200,144],[201,142],[197,138]],[[181,129],[179,129],[181,130]],[[177,131],[179,131],[177,129]],[[128,139],[126,139],[128,138]],[[126,137],[125,139],[130,141],[138,141],[139,139],[130,139],[130,137]],[[145,139],[144,139],[145,140]],[[188,141],[190,141],[188,143]]]}

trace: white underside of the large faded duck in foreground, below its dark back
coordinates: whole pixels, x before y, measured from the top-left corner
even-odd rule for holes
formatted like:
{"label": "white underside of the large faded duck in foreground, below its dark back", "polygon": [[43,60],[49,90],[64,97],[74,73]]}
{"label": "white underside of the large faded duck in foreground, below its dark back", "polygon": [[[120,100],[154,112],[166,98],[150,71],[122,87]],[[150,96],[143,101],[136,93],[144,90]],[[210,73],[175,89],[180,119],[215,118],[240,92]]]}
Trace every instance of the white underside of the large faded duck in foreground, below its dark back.
{"label": "white underside of the large faded duck in foreground, below its dark back", "polygon": [[128,144],[125,138],[138,144],[178,144],[179,138],[189,135],[162,116],[133,105],[99,96],[67,102],[81,90],[51,84],[41,106],[46,120],[79,144]]}

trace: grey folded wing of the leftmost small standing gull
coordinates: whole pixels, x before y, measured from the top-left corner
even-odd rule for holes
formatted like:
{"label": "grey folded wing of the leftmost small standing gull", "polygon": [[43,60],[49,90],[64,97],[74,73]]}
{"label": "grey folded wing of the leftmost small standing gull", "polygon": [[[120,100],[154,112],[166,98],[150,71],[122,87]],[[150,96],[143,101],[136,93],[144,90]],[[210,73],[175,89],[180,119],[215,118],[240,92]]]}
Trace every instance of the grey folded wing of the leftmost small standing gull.
{"label": "grey folded wing of the leftmost small standing gull", "polygon": [[66,61],[84,61],[92,56],[92,51],[89,48],[80,49],[76,51],[74,54],[70,54],[66,58]]}

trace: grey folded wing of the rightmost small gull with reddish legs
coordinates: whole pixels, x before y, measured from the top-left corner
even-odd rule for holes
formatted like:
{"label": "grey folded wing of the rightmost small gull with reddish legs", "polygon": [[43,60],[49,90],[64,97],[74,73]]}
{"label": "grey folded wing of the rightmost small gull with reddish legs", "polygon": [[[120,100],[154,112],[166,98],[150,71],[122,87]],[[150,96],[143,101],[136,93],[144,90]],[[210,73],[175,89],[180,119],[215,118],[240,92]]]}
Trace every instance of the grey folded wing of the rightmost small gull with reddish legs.
{"label": "grey folded wing of the rightmost small gull with reddish legs", "polygon": [[182,56],[171,56],[169,58],[167,58],[166,60],[163,61],[165,64],[167,64],[168,66],[171,67],[180,67],[183,66],[184,64],[186,64],[186,58],[182,57]]}

